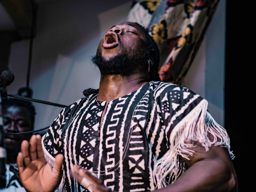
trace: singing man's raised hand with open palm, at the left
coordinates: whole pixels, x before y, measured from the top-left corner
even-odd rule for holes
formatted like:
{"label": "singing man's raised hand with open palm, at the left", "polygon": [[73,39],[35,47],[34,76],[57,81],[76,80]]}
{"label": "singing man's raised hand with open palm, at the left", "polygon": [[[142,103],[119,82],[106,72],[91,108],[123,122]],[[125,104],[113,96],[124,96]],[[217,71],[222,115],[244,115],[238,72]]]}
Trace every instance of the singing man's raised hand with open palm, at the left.
{"label": "singing man's raised hand with open palm, at the left", "polygon": [[60,183],[63,155],[55,157],[54,167],[44,158],[41,136],[33,135],[21,143],[21,152],[17,156],[20,180],[27,191],[54,191]]}

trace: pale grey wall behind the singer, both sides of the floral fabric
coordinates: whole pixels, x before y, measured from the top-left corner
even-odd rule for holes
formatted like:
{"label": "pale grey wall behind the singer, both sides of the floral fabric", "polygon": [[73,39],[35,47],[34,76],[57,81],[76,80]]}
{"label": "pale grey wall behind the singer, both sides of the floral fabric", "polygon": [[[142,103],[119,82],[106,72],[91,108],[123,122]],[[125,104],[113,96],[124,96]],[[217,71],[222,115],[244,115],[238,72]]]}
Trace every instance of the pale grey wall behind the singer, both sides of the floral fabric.
{"label": "pale grey wall behind the singer, both sides of the floral fabric", "polygon": [[[126,21],[130,5],[130,0],[39,1],[30,80],[33,98],[69,105],[83,97],[84,89],[98,88],[100,72],[90,62],[90,57],[96,53],[108,28]],[[210,113],[221,125],[224,13],[225,0],[221,0],[183,84],[208,100]],[[9,67],[15,74],[15,81],[8,87],[11,94],[16,94],[18,88],[26,84],[28,45],[28,40],[12,44]],[[222,48],[219,45],[223,45]],[[214,67],[218,76],[214,76]],[[35,129],[50,125],[61,110],[43,104],[35,106]]]}

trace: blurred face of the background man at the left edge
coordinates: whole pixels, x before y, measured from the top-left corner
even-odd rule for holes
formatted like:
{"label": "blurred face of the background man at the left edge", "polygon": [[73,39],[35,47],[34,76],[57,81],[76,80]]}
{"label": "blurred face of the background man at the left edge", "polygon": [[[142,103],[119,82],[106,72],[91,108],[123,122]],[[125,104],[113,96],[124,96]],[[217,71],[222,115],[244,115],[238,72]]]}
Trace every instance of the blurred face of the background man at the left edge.
{"label": "blurred face of the background man at the left edge", "polygon": [[[4,106],[4,132],[27,132],[32,131],[32,123],[28,109],[21,106]],[[31,134],[6,135],[5,147],[7,151],[19,151],[22,140],[29,140]]]}

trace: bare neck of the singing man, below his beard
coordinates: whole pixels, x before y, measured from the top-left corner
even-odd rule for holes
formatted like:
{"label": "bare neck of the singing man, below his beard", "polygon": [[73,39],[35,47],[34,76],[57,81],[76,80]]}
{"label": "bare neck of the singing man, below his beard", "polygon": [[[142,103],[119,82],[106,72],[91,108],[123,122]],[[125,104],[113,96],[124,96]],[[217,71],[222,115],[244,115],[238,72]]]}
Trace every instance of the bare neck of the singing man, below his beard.
{"label": "bare neck of the singing man, below his beard", "polygon": [[97,100],[111,101],[130,92],[138,90],[147,84],[145,74],[138,73],[131,76],[107,75],[100,77],[100,88]]}

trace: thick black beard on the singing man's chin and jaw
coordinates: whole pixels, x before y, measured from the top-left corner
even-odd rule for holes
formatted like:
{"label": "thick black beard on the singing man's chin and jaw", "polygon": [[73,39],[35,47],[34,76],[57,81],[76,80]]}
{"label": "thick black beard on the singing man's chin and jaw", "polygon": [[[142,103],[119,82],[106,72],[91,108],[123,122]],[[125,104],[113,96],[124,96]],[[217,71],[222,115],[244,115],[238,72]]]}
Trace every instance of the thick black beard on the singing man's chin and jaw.
{"label": "thick black beard on the singing man's chin and jaw", "polygon": [[92,57],[92,62],[99,67],[102,76],[121,75],[129,76],[138,72],[145,71],[146,51],[141,54],[129,56],[127,53],[121,53],[109,60],[105,60],[100,52]]}

